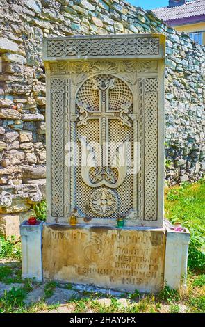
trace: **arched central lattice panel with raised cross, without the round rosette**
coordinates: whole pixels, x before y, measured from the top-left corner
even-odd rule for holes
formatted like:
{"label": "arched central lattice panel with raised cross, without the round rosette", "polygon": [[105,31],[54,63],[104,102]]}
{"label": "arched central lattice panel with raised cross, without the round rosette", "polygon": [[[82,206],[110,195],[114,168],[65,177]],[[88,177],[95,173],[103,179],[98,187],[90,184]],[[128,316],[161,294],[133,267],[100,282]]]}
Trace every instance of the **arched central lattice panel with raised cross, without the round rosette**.
{"label": "arched central lattice panel with raised cross, without the round rosette", "polygon": [[[81,162],[84,162],[72,177],[78,181],[76,193],[72,192],[76,205],[83,214],[92,217],[93,212],[85,208],[89,194],[93,188],[106,186],[116,189],[123,198],[120,206],[125,214],[133,201],[132,193],[126,199],[133,184],[133,176],[126,176],[126,157],[133,158],[133,150],[127,151],[127,143],[133,143],[133,122],[136,122],[131,90],[112,74],[97,74],[85,79],[76,94],[76,115],[72,115],[72,120],[75,126],[72,135],[79,138]],[[93,142],[98,143],[97,149],[92,146]],[[108,143],[110,148],[104,146]],[[82,192],[86,194],[83,202]],[[113,214],[113,218],[116,215]]]}

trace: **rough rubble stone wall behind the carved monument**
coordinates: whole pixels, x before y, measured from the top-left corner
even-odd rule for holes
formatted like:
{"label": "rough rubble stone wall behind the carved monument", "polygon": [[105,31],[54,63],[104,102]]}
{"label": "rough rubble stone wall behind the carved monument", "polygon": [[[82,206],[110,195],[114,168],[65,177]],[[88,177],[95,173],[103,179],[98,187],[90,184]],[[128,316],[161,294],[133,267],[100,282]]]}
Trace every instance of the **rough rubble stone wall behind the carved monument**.
{"label": "rough rubble stone wall behind the carved monument", "polygon": [[42,38],[113,33],[167,36],[165,176],[169,184],[202,176],[204,47],[126,1],[1,0],[0,221],[25,218],[45,196]]}

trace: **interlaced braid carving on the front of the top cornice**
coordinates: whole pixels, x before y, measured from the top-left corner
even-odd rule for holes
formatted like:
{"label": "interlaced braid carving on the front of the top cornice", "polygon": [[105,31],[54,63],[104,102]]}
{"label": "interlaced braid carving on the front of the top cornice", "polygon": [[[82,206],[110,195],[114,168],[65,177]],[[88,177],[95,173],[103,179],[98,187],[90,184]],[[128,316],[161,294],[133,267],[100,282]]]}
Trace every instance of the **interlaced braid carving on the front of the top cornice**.
{"label": "interlaced braid carving on the front of the top cornice", "polygon": [[48,40],[48,57],[122,57],[158,55],[159,38],[142,36],[140,38],[93,38]]}

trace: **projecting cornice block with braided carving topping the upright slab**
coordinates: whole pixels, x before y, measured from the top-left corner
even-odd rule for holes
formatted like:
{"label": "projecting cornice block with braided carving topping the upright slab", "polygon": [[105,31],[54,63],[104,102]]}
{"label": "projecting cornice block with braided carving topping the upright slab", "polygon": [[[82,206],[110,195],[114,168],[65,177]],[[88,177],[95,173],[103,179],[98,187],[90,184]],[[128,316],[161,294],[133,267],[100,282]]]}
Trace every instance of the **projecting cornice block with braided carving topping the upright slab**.
{"label": "projecting cornice block with braided carving topping the upright slab", "polygon": [[161,35],[95,35],[47,38],[44,60],[56,58],[153,58],[164,55]]}

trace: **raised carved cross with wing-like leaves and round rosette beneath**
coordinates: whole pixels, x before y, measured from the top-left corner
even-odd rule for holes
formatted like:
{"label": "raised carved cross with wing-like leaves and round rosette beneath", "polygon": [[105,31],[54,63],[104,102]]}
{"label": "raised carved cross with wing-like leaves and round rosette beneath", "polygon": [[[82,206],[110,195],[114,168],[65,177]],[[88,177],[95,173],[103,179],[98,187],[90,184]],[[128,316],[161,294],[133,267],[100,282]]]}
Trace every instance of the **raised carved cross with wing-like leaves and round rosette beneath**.
{"label": "raised carved cross with wing-like leaves and round rosette beneath", "polygon": [[[90,162],[81,166],[81,176],[83,182],[90,187],[107,186],[111,189],[116,189],[126,177],[126,141],[122,142],[116,149],[113,163],[110,168],[108,163],[105,163],[105,158],[108,157],[107,144],[108,144],[108,120],[120,120],[121,125],[131,127],[133,115],[129,113],[131,102],[125,102],[121,108],[116,111],[109,110],[109,90],[115,88],[115,78],[92,79],[92,88],[99,91],[99,111],[92,111],[88,109],[88,104],[78,102],[79,116],[77,126],[87,125],[89,120],[99,120],[99,149],[101,157],[101,166],[97,167],[95,151],[91,149],[89,144],[86,143],[85,138],[80,136],[82,158],[89,157]],[[121,152],[121,153],[120,153]],[[90,169],[95,168],[95,174],[90,179]],[[117,170],[117,177],[113,169]],[[90,198],[90,207],[95,214],[106,216],[113,214],[117,209],[117,196],[114,191],[110,189],[101,188],[92,193]]]}

